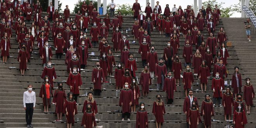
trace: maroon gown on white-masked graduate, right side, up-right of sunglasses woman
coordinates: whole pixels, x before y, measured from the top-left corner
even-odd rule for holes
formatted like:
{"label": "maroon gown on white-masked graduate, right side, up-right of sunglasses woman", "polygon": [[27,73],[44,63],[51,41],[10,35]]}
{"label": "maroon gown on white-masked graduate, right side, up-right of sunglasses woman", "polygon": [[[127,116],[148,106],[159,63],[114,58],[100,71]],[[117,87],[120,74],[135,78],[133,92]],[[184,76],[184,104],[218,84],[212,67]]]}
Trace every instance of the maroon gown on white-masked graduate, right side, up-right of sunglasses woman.
{"label": "maroon gown on white-masked graduate, right side, up-right of sunglasses woman", "polygon": [[211,90],[215,90],[215,92],[213,93],[213,98],[222,97],[222,92],[220,90],[224,89],[223,79],[220,77],[213,78],[211,83],[212,83]]}

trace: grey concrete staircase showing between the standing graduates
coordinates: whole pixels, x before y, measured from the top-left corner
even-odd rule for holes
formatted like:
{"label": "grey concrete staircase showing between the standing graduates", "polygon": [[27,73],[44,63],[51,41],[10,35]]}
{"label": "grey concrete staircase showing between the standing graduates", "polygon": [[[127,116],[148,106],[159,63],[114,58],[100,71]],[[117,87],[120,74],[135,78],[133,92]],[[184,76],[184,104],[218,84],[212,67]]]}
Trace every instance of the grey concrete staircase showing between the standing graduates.
{"label": "grey concrete staircase showing between the standing graduates", "polygon": [[[45,15],[45,13],[44,13]],[[74,17],[74,14],[71,15],[71,17]],[[112,18],[111,18],[112,19]],[[230,21],[235,21],[233,23],[228,23]],[[124,16],[124,23],[123,23],[123,30],[132,28],[133,24],[133,18],[130,16]],[[227,37],[228,41],[232,41],[232,45],[235,47],[228,47],[230,57],[228,58],[228,65],[227,69],[229,71],[228,74],[228,82],[232,78],[232,73],[234,71],[234,66],[239,66],[240,71],[244,73],[242,78],[251,77],[253,81],[253,85],[255,85],[255,70],[253,68],[249,67],[256,67],[254,63],[252,63],[255,60],[247,58],[246,55],[248,52],[246,50],[252,49],[254,50],[256,46],[253,45],[253,41],[255,43],[255,38],[252,38],[251,43],[247,43],[245,38],[245,32],[244,29],[241,32],[236,31],[235,35],[234,33],[230,33],[234,31],[235,29],[232,29],[233,26],[237,25],[239,29],[242,29],[242,27],[239,27],[242,24],[242,19],[222,19],[223,22],[220,22],[220,25],[216,27],[216,34],[220,27],[225,26],[225,30],[227,31]],[[237,23],[236,21],[241,21],[241,25]],[[51,23],[52,24],[52,23]],[[28,24],[29,26],[29,24]],[[90,27],[89,31],[90,32]],[[123,31],[125,33],[125,31]],[[206,31],[203,32],[206,38],[208,36],[208,33]],[[237,35],[239,34],[239,35]],[[89,35],[89,34],[88,34]],[[133,37],[131,35],[131,32],[128,31],[128,35],[131,37],[128,37],[128,40],[133,40]],[[241,36],[240,36],[241,35]],[[15,38],[15,33],[13,31],[12,38],[11,38],[11,47],[10,49],[10,57],[7,60],[7,64],[0,64],[0,120],[3,120],[4,123],[0,123],[0,128],[5,127],[12,127],[12,128],[18,128],[18,127],[24,127],[25,126],[25,111],[22,106],[22,96],[23,92],[26,91],[26,87],[28,84],[33,85],[33,91],[36,92],[36,107],[34,110],[33,120],[32,124],[34,127],[42,127],[42,128],[65,128],[66,124],[64,122],[60,123],[52,123],[57,117],[52,113],[43,113],[43,106],[42,106],[42,99],[38,97],[40,92],[40,87],[42,84],[41,74],[43,71],[42,66],[42,59],[37,54],[32,55],[32,59],[30,63],[28,63],[28,69],[25,72],[25,76],[21,76],[20,72],[18,70],[19,63],[17,62],[17,42]],[[52,35],[50,35],[52,37]],[[88,36],[90,37],[90,36]],[[109,39],[112,37],[112,30],[110,30]],[[255,36],[254,36],[255,37]],[[236,41],[233,41],[236,40]],[[182,49],[183,45],[185,44],[184,38],[180,38],[180,50],[178,51],[178,54],[181,57],[182,62],[184,59],[182,58]],[[158,57],[163,56],[163,49],[166,47],[166,43],[170,41],[170,38],[166,38],[164,35],[159,35],[157,31],[153,31],[151,35],[151,44],[154,45],[156,48],[156,52],[158,54]],[[245,42],[246,45],[249,47],[246,47],[244,44],[239,45],[238,42]],[[37,42],[35,41],[35,45]],[[53,42],[50,41],[49,45],[53,45]],[[110,43],[112,46],[112,43]],[[136,76],[140,76],[140,71],[143,70],[142,62],[140,59],[140,54],[138,54],[138,42],[136,44],[130,44],[130,52],[134,53],[134,58],[137,58],[137,66],[138,70],[136,72]],[[242,48],[240,50],[240,48]],[[53,54],[55,54],[55,48],[52,49]],[[35,49],[34,46],[34,52],[38,52],[38,50]],[[95,56],[89,56],[88,57],[88,64],[86,66],[86,69],[92,70],[95,66],[95,61],[92,59],[99,58],[99,52],[98,52],[98,45],[97,47],[90,48],[89,52],[95,52]],[[195,52],[195,47],[193,48],[193,53]],[[253,54],[253,53],[251,53]],[[118,52],[114,52],[114,55],[120,55]],[[254,56],[253,56],[254,57]],[[63,57],[62,57],[63,58]],[[247,58],[247,59],[246,59]],[[119,62],[120,57],[115,57],[116,62]],[[1,61],[2,62],[2,61]],[[52,62],[54,63],[54,67],[57,74],[56,81],[66,81],[68,74],[66,72],[66,65],[64,63],[64,59],[56,59],[56,56],[54,55]],[[243,62],[243,63],[242,63]],[[16,68],[9,68],[9,67],[16,67]],[[184,67],[183,67],[184,68]],[[115,67],[113,68],[115,69]],[[253,74],[254,73],[254,74]],[[114,74],[113,74],[114,75]],[[89,89],[89,87],[92,87],[93,84],[91,82],[91,71],[83,71],[81,72],[83,85],[81,86],[80,94],[83,95],[86,92],[90,92],[92,90]],[[117,112],[110,112],[115,110],[121,110],[121,107],[118,106],[119,102],[119,93],[118,97],[116,97],[116,89],[115,89],[115,80],[112,77],[108,77],[107,81],[111,79],[112,83],[104,83],[102,88],[102,96],[95,97],[95,100],[97,102],[97,107],[99,113],[96,114],[95,118],[100,119],[100,121],[97,121],[97,125],[103,125],[104,128],[134,128],[135,127],[135,121],[136,121],[136,112],[131,114],[131,121],[121,121],[121,113]],[[198,80],[196,80],[194,83],[196,83]],[[152,85],[149,86],[149,88],[156,89],[156,79],[152,80]],[[164,115],[165,122],[163,123],[163,128],[171,128],[171,127],[178,127],[178,128],[185,128],[186,127],[186,116],[183,114],[183,101],[184,101],[184,90],[183,85],[177,86],[178,92],[175,92],[175,99],[173,102],[173,106],[166,105],[166,114]],[[201,92],[194,92],[194,95],[198,97],[199,99],[199,110],[201,110],[201,103],[204,99],[204,95],[209,93],[213,95],[211,92],[211,81],[209,80],[209,84],[207,86],[207,92],[201,93]],[[54,85],[57,87],[57,85]],[[255,87],[255,86],[254,86]],[[69,92],[69,88],[66,84],[64,84],[64,88],[66,89],[66,93]],[[193,84],[193,89],[199,89],[200,85]],[[146,104],[145,109],[149,112],[149,128],[154,128],[155,120],[154,115],[152,114],[152,106],[153,102],[155,100],[156,94],[161,94],[163,96],[164,102],[166,102],[166,95],[162,91],[158,90],[150,90],[149,95],[147,98],[141,97],[139,99],[139,102],[144,102]],[[74,125],[74,128],[80,128],[81,119],[83,114],[81,113],[83,102],[86,99],[85,96],[80,96],[78,98],[78,114],[75,115],[76,123]],[[254,100],[255,102],[255,100]],[[138,109],[138,107],[136,108]],[[55,107],[52,106],[52,108],[49,109],[49,111],[54,112]],[[223,107],[217,106],[214,107],[214,111],[216,111],[215,116],[212,119],[220,120],[220,121],[213,121],[212,128],[223,128],[225,125],[232,124],[224,121],[224,109]],[[255,115],[256,115],[256,109],[255,107],[252,107],[251,114],[247,114],[247,119],[249,121],[249,124],[246,125],[246,128],[255,128]],[[78,121],[77,121],[78,118]],[[62,117],[62,120],[65,120],[65,116]],[[0,121],[1,122],[1,121]],[[199,128],[202,128],[203,124],[199,124]]]}

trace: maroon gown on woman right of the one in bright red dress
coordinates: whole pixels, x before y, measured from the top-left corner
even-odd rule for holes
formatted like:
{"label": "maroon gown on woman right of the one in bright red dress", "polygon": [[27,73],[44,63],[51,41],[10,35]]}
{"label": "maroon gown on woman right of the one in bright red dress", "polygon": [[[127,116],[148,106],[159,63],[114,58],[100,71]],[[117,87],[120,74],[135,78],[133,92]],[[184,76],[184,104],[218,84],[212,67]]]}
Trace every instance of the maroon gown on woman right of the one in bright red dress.
{"label": "maroon gown on woman right of the one in bright red dress", "polygon": [[54,98],[52,103],[56,103],[55,113],[65,113],[66,110],[64,109],[64,102],[66,100],[66,93],[65,90],[62,91],[56,89],[54,92]]}

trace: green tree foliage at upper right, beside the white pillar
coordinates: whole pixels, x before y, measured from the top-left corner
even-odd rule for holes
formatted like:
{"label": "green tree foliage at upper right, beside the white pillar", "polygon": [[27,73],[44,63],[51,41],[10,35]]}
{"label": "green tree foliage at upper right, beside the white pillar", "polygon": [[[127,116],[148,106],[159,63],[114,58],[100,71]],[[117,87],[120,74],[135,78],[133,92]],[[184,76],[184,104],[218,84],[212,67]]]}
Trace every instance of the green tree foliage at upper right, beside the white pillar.
{"label": "green tree foliage at upper right, beside the white pillar", "polygon": [[207,5],[211,5],[211,9],[213,10],[215,8],[215,5],[218,5],[218,8],[220,8],[221,17],[230,17],[234,14],[234,10],[232,8],[232,5],[230,7],[223,8],[222,5],[225,4],[224,2],[216,2],[216,0],[209,0],[208,2],[202,2],[202,6],[204,8],[207,8]]}

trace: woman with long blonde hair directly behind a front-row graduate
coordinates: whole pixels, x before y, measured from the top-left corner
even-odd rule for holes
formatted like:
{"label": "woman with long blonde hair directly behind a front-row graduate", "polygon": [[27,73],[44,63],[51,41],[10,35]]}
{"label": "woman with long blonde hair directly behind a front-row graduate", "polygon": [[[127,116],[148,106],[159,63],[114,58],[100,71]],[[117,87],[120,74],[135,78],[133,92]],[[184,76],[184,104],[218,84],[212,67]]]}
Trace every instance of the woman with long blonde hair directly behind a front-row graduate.
{"label": "woman with long blonde hair directly behind a front-row graduate", "polygon": [[93,99],[93,93],[92,92],[87,93],[87,99],[83,103],[82,112],[86,111],[86,106],[88,104],[91,105],[91,110],[92,110],[93,114],[94,115],[97,114],[98,113],[98,108],[97,108],[96,100]]}

